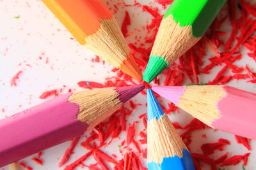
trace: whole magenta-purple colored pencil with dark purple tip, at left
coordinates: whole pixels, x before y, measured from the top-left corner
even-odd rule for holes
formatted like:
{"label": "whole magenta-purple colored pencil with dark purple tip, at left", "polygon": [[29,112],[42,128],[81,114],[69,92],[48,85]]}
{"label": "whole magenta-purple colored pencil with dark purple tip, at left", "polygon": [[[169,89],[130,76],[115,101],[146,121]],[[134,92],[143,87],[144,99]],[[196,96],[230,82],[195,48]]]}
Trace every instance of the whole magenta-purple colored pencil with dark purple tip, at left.
{"label": "whole magenta-purple colored pencil with dark purple tip, at left", "polygon": [[68,93],[0,120],[0,167],[81,136],[143,85]]}

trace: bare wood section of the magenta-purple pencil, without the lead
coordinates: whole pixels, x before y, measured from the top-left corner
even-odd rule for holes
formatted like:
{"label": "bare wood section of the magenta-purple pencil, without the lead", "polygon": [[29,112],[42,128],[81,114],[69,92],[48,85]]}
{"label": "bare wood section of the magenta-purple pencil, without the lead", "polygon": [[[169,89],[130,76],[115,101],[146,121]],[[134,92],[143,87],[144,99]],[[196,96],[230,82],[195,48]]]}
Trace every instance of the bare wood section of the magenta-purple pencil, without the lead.
{"label": "bare wood section of the magenta-purple pencil, without the lead", "polygon": [[75,92],[68,100],[79,104],[77,120],[88,124],[88,130],[109,117],[113,110],[118,110],[122,106],[115,88]]}

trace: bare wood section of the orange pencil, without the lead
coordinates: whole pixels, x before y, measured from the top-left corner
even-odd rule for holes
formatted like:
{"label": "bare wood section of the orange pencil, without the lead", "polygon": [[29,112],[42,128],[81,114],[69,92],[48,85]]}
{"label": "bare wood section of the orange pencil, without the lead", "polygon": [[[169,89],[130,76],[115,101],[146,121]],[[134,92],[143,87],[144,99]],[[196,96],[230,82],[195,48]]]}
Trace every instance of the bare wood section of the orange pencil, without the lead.
{"label": "bare wood section of the orange pencil, without the lead", "polygon": [[86,36],[84,47],[99,55],[102,59],[110,62],[115,67],[120,67],[131,52],[125,43],[124,36],[115,17],[102,19],[99,31],[90,36]]}

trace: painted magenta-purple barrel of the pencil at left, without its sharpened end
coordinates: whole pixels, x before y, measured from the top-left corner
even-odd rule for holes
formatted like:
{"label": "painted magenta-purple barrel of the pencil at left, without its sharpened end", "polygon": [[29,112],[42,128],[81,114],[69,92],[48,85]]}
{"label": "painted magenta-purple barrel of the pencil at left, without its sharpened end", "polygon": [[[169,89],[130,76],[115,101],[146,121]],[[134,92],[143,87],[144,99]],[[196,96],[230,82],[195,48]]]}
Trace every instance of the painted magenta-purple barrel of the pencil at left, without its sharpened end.
{"label": "painted magenta-purple barrel of the pencil at left, without its sharpened end", "polygon": [[0,120],[0,167],[75,138],[88,125],[65,94]]}

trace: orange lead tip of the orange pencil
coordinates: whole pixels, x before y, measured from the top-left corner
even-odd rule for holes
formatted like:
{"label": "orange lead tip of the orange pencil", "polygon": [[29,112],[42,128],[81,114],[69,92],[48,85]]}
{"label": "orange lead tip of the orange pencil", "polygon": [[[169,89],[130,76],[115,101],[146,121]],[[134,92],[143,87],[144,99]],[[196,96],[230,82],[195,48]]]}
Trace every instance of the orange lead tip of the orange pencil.
{"label": "orange lead tip of the orange pencil", "polygon": [[127,59],[123,61],[123,63],[120,66],[120,69],[124,71],[124,73],[129,74],[129,76],[135,78],[137,81],[142,81],[141,71],[136,64],[132,53],[130,53],[127,56]]}

